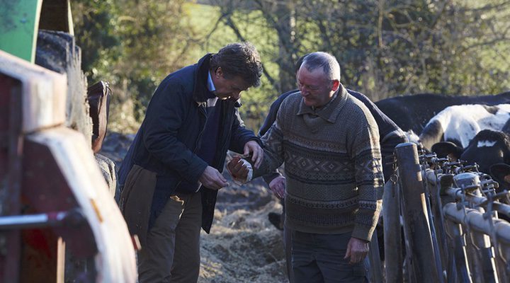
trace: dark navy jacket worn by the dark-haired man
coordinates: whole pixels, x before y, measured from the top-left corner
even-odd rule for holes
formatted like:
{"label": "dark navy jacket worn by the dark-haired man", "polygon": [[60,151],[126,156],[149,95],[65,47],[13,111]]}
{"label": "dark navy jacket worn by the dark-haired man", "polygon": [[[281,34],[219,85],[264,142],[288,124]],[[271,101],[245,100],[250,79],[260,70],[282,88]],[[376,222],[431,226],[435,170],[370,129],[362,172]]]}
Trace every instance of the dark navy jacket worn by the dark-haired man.
{"label": "dark navy jacket worn by the dark-haired man", "polygon": [[[183,180],[197,183],[208,166],[196,153],[208,141],[208,137],[203,136],[203,129],[207,117],[206,83],[210,57],[211,54],[207,54],[197,64],[169,74],[159,84],[120,168],[121,185],[133,163],[157,173],[149,227],[161,214],[177,185]],[[244,128],[237,109],[240,106],[238,101],[218,100],[218,103],[221,104],[220,127],[215,158],[210,166],[222,172],[227,149],[242,153],[247,141],[260,141],[253,132]],[[217,190],[201,187],[200,193],[202,228],[209,233]]]}

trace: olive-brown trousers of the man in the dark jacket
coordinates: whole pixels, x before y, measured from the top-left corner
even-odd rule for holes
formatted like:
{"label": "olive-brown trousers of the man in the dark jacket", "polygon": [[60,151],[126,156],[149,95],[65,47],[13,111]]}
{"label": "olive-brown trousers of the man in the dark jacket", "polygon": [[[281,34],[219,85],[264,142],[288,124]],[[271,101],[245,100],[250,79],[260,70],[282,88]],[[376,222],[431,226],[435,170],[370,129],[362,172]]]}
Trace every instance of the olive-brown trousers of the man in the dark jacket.
{"label": "olive-brown trousers of the man in the dark jacket", "polygon": [[200,270],[200,192],[172,195],[138,253],[138,280],[196,283]]}

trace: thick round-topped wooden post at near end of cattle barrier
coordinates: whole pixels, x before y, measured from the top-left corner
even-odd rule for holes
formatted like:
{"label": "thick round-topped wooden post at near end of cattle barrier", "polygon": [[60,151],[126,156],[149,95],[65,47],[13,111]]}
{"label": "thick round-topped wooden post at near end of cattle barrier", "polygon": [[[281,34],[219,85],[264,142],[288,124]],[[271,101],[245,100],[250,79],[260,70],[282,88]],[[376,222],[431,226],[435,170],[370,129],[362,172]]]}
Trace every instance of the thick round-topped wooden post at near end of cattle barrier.
{"label": "thick round-topped wooden post at near end of cattle barrier", "polygon": [[409,273],[420,282],[442,282],[438,270],[431,268],[436,262],[429,219],[427,217],[424,187],[416,144],[405,143],[395,147],[399,166],[399,180],[402,185],[402,216],[404,230],[409,242]]}

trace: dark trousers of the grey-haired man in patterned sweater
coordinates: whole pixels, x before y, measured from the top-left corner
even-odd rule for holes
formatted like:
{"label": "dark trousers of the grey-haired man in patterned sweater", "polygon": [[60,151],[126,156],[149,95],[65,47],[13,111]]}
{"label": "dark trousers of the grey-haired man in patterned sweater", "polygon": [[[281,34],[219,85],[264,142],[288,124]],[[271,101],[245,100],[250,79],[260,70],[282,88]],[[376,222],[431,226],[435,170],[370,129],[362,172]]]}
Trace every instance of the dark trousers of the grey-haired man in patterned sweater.
{"label": "dark trousers of the grey-haired man in patterned sweater", "polygon": [[295,283],[365,282],[363,261],[344,260],[351,233],[323,235],[293,231],[292,268]]}

